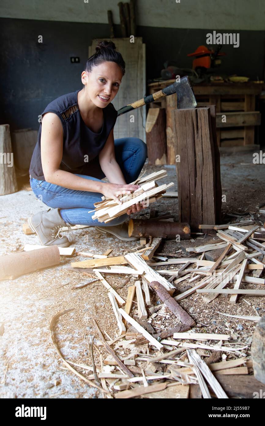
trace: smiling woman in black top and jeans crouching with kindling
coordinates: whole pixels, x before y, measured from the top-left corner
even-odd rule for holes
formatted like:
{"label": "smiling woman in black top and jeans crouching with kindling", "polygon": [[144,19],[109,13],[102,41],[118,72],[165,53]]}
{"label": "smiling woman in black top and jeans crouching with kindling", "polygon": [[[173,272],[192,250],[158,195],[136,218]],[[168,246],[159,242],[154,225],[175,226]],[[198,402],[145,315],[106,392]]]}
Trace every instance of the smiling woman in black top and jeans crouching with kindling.
{"label": "smiling woman in black top and jeans crouching with kindling", "polygon": [[[62,227],[91,225],[123,240],[128,237],[127,215],[145,206],[135,204],[105,226],[93,220],[94,203],[102,195],[120,203],[120,194],[131,193],[145,163],[145,143],[138,138],[114,141],[117,111],[111,101],[125,74],[122,55],[114,43],[98,43],[81,74],[83,89],[60,96],[44,109],[38,140],[30,165],[34,194],[50,209],[31,216],[28,223],[42,245],[67,247]],[[108,182],[101,179],[106,177]],[[70,229],[69,229],[70,230]],[[68,239],[69,238],[69,239]],[[71,239],[70,239],[71,241]]]}

